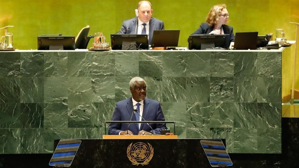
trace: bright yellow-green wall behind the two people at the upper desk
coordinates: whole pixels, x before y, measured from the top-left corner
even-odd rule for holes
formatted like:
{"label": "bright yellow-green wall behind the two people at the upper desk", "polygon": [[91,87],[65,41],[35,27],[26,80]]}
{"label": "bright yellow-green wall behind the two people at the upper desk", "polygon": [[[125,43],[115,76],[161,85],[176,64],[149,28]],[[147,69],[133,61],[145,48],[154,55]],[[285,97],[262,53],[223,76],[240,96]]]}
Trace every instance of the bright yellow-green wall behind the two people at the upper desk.
{"label": "bright yellow-green wall behind the two people at the upper desk", "polygon": [[[188,36],[195,31],[210,8],[227,4],[231,14],[229,25],[234,32],[259,31],[275,33],[284,28],[287,39],[295,39],[295,25],[299,22],[297,0],[152,0],[153,17],[161,19],[166,29],[180,29],[179,45],[187,46]],[[77,36],[81,28],[90,25],[90,34],[103,32],[110,42],[110,34],[120,30],[123,20],[135,16],[138,0],[9,0],[0,1],[0,27],[13,25],[17,49],[37,49],[37,36],[57,34]],[[0,30],[4,34],[4,30]],[[91,47],[91,43],[89,44]]]}

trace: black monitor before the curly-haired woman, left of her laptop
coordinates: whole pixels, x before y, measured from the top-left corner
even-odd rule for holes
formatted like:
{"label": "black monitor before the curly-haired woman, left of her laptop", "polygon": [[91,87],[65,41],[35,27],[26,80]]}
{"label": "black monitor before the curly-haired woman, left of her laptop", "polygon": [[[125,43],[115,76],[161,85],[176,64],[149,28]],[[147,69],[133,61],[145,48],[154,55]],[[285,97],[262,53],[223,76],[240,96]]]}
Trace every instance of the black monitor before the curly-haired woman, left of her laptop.
{"label": "black monitor before the curly-haired woman, left of her laptop", "polygon": [[189,36],[189,50],[205,50],[207,48],[228,48],[229,34],[196,34]]}

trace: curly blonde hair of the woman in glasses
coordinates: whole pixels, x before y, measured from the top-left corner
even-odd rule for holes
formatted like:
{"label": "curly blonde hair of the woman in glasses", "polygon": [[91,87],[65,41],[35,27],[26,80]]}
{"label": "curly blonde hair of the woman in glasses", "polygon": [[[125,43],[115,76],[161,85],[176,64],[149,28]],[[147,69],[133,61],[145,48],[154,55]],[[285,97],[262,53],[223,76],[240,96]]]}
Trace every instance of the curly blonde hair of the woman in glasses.
{"label": "curly blonde hair of the woman in glasses", "polygon": [[226,4],[214,5],[208,13],[206,22],[209,26],[215,26],[220,18],[219,14],[226,8]]}

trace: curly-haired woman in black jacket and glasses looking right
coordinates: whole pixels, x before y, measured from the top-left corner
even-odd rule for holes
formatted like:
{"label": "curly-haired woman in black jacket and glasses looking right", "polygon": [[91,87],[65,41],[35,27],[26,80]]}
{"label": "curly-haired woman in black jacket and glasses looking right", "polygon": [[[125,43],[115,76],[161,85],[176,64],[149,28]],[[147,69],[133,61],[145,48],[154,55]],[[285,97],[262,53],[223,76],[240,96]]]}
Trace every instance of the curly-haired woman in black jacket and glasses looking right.
{"label": "curly-haired woman in black jacket and glasses looking right", "polygon": [[229,34],[230,46],[233,48],[235,35],[233,27],[225,25],[228,23],[228,11],[225,4],[215,5],[208,13],[206,23],[202,23],[200,27],[193,34]]}

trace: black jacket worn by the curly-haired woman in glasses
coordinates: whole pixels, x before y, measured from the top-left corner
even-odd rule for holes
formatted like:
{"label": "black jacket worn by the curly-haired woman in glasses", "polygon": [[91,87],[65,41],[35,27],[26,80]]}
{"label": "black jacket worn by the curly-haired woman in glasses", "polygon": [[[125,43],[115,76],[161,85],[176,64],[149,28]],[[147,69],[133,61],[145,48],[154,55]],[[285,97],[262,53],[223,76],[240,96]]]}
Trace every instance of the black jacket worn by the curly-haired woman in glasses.
{"label": "black jacket worn by the curly-haired woman in glasses", "polygon": [[[235,35],[233,31],[233,27],[228,26],[228,25],[222,25],[223,32],[224,34],[229,34],[230,35],[230,42],[235,41]],[[209,26],[208,23],[202,23],[200,27],[191,35],[193,34],[209,34],[211,31],[213,31],[214,27]]]}

